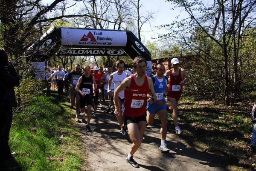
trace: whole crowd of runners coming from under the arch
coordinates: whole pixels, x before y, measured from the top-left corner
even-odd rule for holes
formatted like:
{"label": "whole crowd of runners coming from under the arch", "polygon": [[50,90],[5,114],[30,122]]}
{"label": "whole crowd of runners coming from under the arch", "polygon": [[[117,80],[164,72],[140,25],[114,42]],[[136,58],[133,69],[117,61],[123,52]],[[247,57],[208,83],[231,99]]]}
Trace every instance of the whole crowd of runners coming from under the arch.
{"label": "whole crowd of runners coming from under the arch", "polygon": [[140,56],[134,59],[132,72],[126,70],[123,60],[118,60],[115,67],[108,66],[106,71],[102,67],[81,67],[77,64],[73,71],[66,68],[65,73],[58,66],[50,74],[52,89],[58,87],[58,98],[61,99],[65,87],[70,96],[70,108],[76,108],[75,120],[87,114],[86,130],[89,132],[91,118],[97,118],[98,105],[110,100],[106,113],[116,116],[122,135],[129,134],[133,143],[126,161],[138,168],[133,155],[140,147],[146,125],[154,123],[155,114],[161,121],[161,151],[169,151],[166,145],[167,108],[173,111],[176,134],[183,132],[177,122],[177,103],[189,78],[186,71],[179,68],[177,58],[173,58],[171,63],[172,68],[167,71],[163,63],[157,63],[152,77],[145,75],[147,63]]}

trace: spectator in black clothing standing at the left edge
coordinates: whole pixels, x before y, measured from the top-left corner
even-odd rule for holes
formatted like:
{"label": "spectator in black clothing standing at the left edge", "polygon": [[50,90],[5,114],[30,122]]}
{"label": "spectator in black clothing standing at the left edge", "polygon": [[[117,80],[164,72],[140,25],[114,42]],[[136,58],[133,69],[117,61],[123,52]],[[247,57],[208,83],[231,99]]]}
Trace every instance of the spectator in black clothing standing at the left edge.
{"label": "spectator in black clothing standing at the left edge", "polygon": [[8,168],[6,161],[12,157],[8,145],[12,125],[12,107],[17,107],[14,87],[19,86],[19,76],[12,59],[0,49],[0,169]]}

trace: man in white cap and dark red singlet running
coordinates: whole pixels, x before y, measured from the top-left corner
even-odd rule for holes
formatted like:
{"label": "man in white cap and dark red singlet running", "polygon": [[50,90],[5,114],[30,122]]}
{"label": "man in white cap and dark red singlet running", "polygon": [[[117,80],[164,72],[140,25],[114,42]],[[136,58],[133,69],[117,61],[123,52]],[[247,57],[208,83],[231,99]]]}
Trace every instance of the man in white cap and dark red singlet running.
{"label": "man in white cap and dark red singlet running", "polygon": [[[180,100],[180,96],[182,94],[183,85],[189,80],[188,75],[186,74],[185,69],[179,68],[179,60],[177,58],[173,58],[171,60],[172,69],[166,71],[165,76],[169,76],[169,88],[168,95],[166,97],[167,103],[171,103],[171,105],[167,105],[169,109],[172,109],[172,119],[175,125],[176,134],[181,134],[183,131],[178,126],[178,108],[177,104]],[[185,80],[182,79],[185,77]],[[169,97],[168,97],[169,96]]]}

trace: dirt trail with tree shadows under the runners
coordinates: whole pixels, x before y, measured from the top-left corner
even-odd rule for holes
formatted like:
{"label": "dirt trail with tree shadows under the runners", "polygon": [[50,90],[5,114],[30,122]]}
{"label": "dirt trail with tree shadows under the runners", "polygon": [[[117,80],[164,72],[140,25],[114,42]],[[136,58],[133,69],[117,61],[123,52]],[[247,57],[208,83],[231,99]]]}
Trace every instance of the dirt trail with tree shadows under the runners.
{"label": "dirt trail with tree shadows under the runners", "polygon": [[[97,119],[92,119],[90,128],[92,132],[85,130],[85,119],[80,119],[83,148],[88,153],[90,168],[95,171],[221,171],[221,157],[213,154],[197,151],[186,144],[177,135],[167,131],[167,147],[169,153],[161,153],[158,149],[160,139],[160,125],[147,126],[144,140],[134,154],[134,160],[140,164],[140,168],[134,168],[125,161],[131,147],[128,135],[120,132],[116,117],[106,114],[108,103],[99,105]],[[155,121],[156,122],[156,121]]]}

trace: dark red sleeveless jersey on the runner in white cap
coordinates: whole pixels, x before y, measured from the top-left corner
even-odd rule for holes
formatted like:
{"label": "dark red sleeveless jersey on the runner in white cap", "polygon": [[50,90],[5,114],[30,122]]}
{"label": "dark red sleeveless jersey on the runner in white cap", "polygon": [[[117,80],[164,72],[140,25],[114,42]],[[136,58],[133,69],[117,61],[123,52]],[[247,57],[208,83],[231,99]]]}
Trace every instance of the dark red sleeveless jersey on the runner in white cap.
{"label": "dark red sleeveless jersey on the runner in white cap", "polygon": [[179,74],[174,76],[172,75],[172,69],[170,69],[170,80],[168,91],[172,93],[182,93],[183,85],[180,85],[180,82],[183,81],[181,77],[181,68],[179,69]]}

